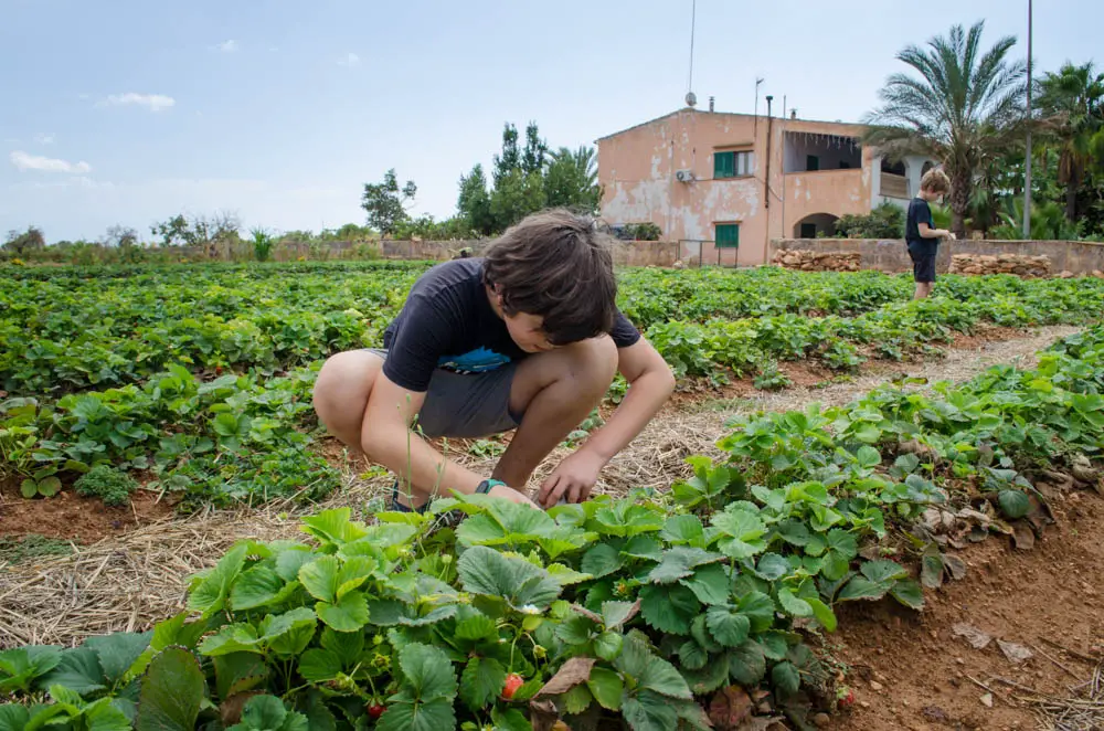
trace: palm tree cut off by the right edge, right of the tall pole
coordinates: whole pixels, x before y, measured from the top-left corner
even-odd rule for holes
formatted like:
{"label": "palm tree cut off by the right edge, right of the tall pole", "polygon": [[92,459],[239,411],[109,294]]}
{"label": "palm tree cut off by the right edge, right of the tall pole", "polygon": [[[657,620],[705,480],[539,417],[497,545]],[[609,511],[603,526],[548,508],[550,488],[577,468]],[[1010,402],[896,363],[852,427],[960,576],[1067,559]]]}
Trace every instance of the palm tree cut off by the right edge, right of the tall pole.
{"label": "palm tree cut off by the right edge, right of the tall pole", "polygon": [[[1093,157],[1093,137],[1104,126],[1104,73],[1093,62],[1066,63],[1039,82],[1039,109],[1058,149],[1058,182],[1065,186],[1065,218],[1078,218],[1078,190]],[[1098,144],[1098,141],[1096,142]]]}

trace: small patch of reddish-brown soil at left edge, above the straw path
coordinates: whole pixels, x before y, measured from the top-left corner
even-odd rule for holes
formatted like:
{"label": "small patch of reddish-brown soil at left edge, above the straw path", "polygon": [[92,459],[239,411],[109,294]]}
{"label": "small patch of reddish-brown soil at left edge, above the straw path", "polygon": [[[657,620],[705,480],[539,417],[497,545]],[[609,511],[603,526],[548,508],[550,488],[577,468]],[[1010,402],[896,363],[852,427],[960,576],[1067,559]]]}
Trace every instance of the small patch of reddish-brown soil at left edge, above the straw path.
{"label": "small patch of reddish-brown soil at left edge, above the straw path", "polygon": [[172,515],[172,506],[155,492],[139,490],[130,505],[109,508],[99,498],[64,489],[52,498],[25,499],[19,488],[0,487],[0,536],[29,536],[94,543]]}

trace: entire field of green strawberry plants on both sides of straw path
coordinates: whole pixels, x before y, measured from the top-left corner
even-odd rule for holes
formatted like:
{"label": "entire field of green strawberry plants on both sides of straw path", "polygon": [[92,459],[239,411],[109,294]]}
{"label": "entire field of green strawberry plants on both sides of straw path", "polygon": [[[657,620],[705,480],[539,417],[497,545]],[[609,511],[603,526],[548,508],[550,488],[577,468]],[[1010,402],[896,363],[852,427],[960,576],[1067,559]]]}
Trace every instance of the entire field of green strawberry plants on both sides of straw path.
{"label": "entire field of green strawberry plants on both sides of straw path", "polygon": [[[320,359],[379,345],[425,266],[0,272],[4,499],[331,495]],[[942,277],[912,303],[907,278],[873,273],[619,276],[683,388],[937,358],[994,327],[1081,331],[1029,369],[736,416],[723,457],[690,457],[666,490],[314,512],[300,540],[234,544],[147,632],[0,651],[0,731],[803,728],[853,701],[825,651],[848,607],[916,611],[960,575],[948,526],[1036,531],[1043,481],[1104,485],[1102,280]]]}

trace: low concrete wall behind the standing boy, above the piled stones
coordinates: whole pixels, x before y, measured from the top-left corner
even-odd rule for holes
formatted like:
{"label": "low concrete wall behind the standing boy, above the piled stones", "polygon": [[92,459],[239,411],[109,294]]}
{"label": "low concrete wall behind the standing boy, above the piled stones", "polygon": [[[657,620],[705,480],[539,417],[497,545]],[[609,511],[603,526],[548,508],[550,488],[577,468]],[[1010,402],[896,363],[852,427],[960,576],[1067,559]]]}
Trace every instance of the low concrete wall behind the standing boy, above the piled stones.
{"label": "low concrete wall behind the standing boy, above the piled stones", "polygon": [[[864,269],[909,272],[912,259],[901,239],[777,239],[771,242],[771,256],[779,250],[806,248],[815,252],[858,252]],[[1054,274],[1079,275],[1104,272],[1104,244],[1091,241],[955,241],[940,245],[936,271],[951,268],[952,254],[1021,254],[1050,257]]]}

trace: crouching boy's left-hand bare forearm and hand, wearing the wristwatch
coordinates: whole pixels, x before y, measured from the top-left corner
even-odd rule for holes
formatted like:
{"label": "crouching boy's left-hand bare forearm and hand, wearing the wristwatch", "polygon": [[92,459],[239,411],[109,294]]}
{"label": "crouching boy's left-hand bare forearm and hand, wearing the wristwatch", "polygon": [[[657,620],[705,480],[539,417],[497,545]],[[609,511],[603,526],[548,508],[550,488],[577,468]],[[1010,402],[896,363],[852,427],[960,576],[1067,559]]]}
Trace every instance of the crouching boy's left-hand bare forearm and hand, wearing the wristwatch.
{"label": "crouching boy's left-hand bare forearm and hand, wearing the wristwatch", "polygon": [[[375,379],[364,411],[361,448],[364,454],[399,476],[400,491],[414,486],[420,500],[432,494],[448,497],[452,490],[470,495],[484,477],[446,459],[421,436],[411,431],[415,414],[425,402],[425,393],[404,389],[382,371]],[[495,487],[489,495],[517,502],[530,502],[509,487]]]}

